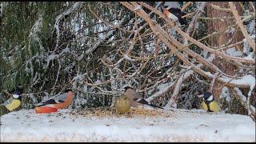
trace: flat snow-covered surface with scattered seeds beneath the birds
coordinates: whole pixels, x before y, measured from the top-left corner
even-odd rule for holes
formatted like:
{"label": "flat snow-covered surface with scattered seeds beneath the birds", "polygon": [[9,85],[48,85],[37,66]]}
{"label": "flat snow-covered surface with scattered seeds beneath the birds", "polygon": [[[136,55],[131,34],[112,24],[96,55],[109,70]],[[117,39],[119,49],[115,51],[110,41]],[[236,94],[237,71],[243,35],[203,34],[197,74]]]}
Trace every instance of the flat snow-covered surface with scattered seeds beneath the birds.
{"label": "flat snow-covered surface with scattered seeds beneath the birds", "polygon": [[255,142],[255,122],[245,115],[158,111],[97,117],[20,110],[1,116],[1,142]]}

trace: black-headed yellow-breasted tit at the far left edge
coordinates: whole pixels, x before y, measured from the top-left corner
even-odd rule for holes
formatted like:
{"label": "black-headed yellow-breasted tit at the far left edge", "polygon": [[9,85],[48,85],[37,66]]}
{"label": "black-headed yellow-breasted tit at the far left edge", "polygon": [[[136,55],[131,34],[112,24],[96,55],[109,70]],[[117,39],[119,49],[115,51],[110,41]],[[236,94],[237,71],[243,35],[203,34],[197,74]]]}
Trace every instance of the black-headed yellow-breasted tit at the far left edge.
{"label": "black-headed yellow-breasted tit at the far left edge", "polygon": [[7,114],[10,111],[18,110],[22,106],[22,86],[17,86],[14,94],[1,105],[1,114]]}

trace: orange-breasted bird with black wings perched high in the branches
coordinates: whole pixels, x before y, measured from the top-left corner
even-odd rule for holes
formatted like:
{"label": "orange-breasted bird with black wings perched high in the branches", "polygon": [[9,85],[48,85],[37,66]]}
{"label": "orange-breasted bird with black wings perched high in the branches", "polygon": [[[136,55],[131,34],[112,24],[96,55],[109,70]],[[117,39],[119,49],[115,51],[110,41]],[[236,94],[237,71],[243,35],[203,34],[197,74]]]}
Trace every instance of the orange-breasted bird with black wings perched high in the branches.
{"label": "orange-breasted bird with black wings perched high in the branches", "polygon": [[187,24],[186,18],[182,18],[186,13],[182,12],[178,2],[170,2],[169,6],[163,6],[163,14],[166,14],[174,22],[180,22],[181,25]]}

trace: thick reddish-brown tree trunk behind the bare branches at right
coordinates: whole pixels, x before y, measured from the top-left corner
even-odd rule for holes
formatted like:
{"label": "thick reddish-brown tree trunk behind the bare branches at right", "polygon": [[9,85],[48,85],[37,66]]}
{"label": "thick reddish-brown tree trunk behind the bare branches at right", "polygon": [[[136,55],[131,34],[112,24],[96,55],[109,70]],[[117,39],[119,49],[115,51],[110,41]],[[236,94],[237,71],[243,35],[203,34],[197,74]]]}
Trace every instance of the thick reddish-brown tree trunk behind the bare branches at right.
{"label": "thick reddish-brown tree trunk behind the bare branches at right", "polygon": [[[239,2],[234,2],[234,4],[236,6],[236,9],[238,10],[238,13],[241,15],[242,7],[239,6]],[[208,17],[218,18],[218,19],[210,20],[208,22],[209,34],[223,30],[223,32],[209,38],[210,46],[212,46],[214,49],[218,49],[219,47],[228,46],[236,42],[241,42],[243,39],[243,34],[238,27],[234,27],[235,28],[234,33],[226,33],[226,28],[228,26],[234,25],[236,22],[235,18],[230,18],[230,17],[234,17],[231,11],[220,10],[215,8],[215,6],[219,6],[221,8],[228,9],[229,3],[228,2],[209,2],[208,5],[209,5],[208,6],[209,8],[207,10]],[[242,44],[236,45],[234,47],[236,50],[241,50]],[[226,61],[225,59],[217,57],[214,59],[213,63],[215,66],[218,66],[218,68],[223,72],[225,72],[226,74],[234,75],[238,72],[238,67],[235,66],[232,62]],[[222,89],[218,89],[221,86],[222,84],[218,82],[214,83],[214,89],[212,92],[214,94],[214,97],[217,99],[222,91]]]}

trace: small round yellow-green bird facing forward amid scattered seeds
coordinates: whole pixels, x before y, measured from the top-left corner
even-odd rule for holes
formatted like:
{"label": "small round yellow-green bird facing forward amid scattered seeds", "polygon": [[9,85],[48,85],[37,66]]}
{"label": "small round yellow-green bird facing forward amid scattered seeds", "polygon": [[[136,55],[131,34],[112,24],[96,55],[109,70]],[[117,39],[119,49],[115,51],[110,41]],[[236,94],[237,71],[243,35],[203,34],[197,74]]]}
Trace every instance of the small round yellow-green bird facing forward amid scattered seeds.
{"label": "small round yellow-green bird facing forward amid scattered seeds", "polygon": [[127,95],[122,95],[115,99],[114,108],[118,114],[124,114],[130,110],[130,99]]}

